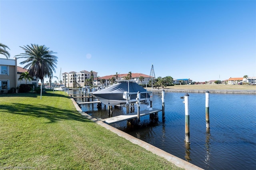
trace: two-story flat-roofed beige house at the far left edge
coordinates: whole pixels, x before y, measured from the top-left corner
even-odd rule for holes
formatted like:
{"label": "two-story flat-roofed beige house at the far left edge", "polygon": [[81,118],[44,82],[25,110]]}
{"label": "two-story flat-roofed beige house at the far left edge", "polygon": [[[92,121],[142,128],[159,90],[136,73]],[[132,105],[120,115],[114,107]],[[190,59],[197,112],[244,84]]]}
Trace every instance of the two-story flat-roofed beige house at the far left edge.
{"label": "two-story flat-roofed beige house at the far left edge", "polygon": [[17,85],[17,58],[0,58],[0,90],[1,93],[7,93],[12,87]]}

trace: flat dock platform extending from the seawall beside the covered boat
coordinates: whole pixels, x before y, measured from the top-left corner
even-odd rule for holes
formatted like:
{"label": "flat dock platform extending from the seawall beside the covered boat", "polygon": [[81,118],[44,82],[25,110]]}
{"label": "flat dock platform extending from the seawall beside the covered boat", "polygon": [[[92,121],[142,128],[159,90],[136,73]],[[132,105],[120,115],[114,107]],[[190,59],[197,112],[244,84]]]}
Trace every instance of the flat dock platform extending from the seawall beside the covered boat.
{"label": "flat dock platform extending from the seawall beside the covered boat", "polygon": [[[152,113],[158,113],[160,111],[162,111],[162,110],[161,109],[154,109],[154,108],[151,111],[143,110],[143,111],[140,111],[140,117],[150,115]],[[136,113],[134,112],[134,113],[128,113],[126,115],[119,115],[119,116],[116,116],[116,117],[106,118],[106,119],[103,119],[102,121],[106,122],[108,124],[112,124],[112,123],[118,123],[118,122],[121,122],[121,121],[134,119],[136,117],[137,117],[137,112]]]}

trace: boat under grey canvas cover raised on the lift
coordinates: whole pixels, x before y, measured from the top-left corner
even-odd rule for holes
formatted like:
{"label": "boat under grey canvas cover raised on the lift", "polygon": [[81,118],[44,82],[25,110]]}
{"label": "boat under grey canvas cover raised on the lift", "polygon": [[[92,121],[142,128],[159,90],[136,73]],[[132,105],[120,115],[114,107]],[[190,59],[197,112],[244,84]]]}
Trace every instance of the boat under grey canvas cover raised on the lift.
{"label": "boat under grey canvas cover raised on the lift", "polygon": [[[92,95],[97,97],[104,105],[120,105],[121,103],[126,103],[126,99],[123,99],[123,94],[125,91],[128,92],[128,85],[129,93],[146,92],[146,89],[135,82],[121,82],[106,89],[95,91]],[[136,99],[136,97],[137,94],[134,94],[131,95],[130,99]],[[146,93],[140,94],[140,98],[146,98]]]}

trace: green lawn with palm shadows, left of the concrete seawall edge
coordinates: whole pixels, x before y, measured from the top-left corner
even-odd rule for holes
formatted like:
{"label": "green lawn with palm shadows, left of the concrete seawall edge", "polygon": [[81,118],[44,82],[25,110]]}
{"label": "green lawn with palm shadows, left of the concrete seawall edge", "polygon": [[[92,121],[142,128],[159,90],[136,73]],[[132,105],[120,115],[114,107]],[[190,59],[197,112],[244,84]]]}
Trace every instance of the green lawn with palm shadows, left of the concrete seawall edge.
{"label": "green lawn with palm shadows, left of the concrete seawall edge", "polygon": [[181,169],[84,119],[64,92],[1,94],[0,103],[0,169]]}

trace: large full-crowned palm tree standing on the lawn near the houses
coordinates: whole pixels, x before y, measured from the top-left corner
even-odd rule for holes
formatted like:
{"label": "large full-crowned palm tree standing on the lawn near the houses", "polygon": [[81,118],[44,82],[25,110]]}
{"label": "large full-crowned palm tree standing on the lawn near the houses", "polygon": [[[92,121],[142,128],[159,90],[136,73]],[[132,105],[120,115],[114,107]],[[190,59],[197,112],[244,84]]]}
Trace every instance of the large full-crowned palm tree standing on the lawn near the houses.
{"label": "large full-crowned palm tree standing on the lawn near the houses", "polygon": [[[25,58],[25,61],[20,62],[20,64],[26,64],[24,68],[29,69],[29,75],[40,79],[43,85],[44,77],[50,77],[53,75],[53,72],[56,72],[55,68],[58,57],[53,55],[56,52],[49,50],[45,45],[38,44],[24,45],[21,48],[25,52],[16,56],[19,56],[18,58]],[[42,85],[40,99],[42,99]]]}

